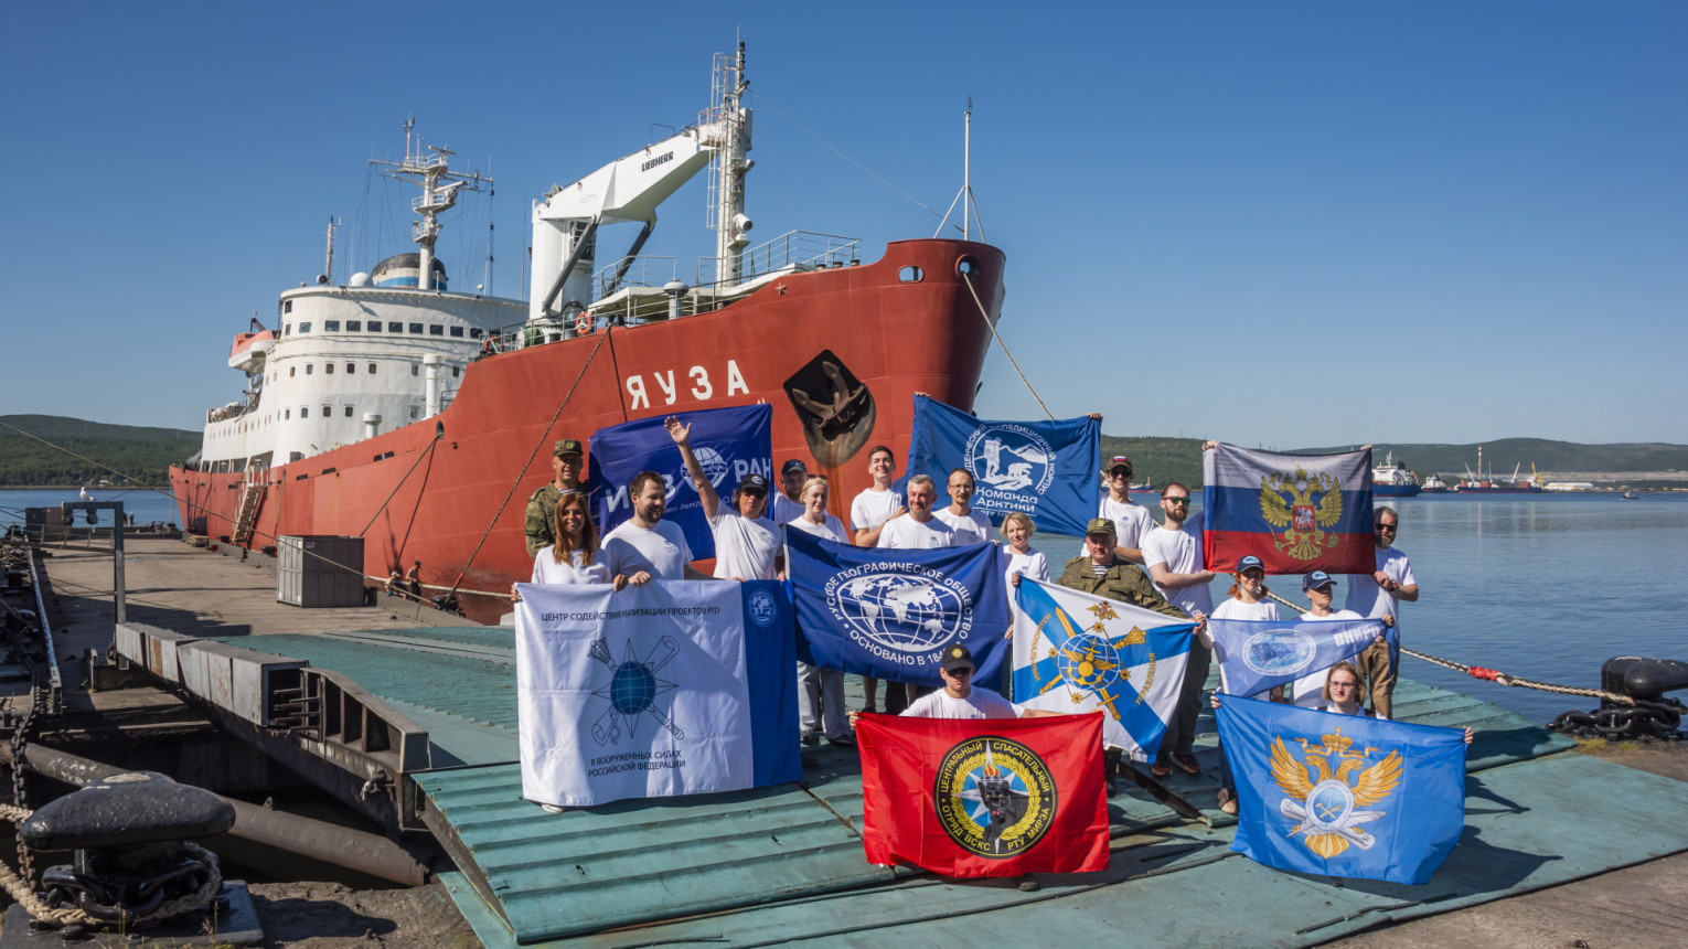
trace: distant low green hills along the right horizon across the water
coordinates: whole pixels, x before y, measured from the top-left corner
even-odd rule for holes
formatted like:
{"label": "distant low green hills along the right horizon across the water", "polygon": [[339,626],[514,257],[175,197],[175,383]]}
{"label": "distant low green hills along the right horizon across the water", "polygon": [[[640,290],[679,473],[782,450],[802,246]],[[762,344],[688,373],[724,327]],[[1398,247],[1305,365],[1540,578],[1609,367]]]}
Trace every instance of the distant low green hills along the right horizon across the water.
{"label": "distant low green hills along the right horizon across the water", "polygon": [[[1357,444],[1295,449],[1300,454],[1352,451]],[[1431,471],[1463,474],[1477,466],[1477,442],[1472,444],[1388,444],[1372,446],[1372,458],[1382,463],[1393,451],[1394,459],[1416,471],[1420,478]],[[1156,485],[1183,481],[1190,488],[1202,485],[1202,441],[1166,437],[1102,436],[1102,458],[1124,454],[1131,459],[1136,481],[1153,480]],[[1550,439],[1496,439],[1482,442],[1485,468],[1507,478],[1512,466],[1521,464],[1524,474],[1534,463],[1538,471],[1688,471],[1688,446],[1664,442],[1578,444]]]}

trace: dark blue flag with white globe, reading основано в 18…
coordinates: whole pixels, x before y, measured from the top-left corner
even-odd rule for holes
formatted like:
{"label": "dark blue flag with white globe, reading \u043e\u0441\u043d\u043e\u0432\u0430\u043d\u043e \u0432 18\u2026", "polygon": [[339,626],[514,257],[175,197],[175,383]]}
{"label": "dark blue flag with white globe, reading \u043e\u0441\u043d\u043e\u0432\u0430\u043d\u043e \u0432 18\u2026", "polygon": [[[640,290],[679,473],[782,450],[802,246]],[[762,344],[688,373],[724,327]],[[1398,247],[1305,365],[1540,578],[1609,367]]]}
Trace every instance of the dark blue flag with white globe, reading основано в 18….
{"label": "dark blue flag with white globe, reading \u043e\u0441\u043d\u043e\u0432\u0430\u043d\u043e \u0432 18\u2026", "polygon": [[797,659],[874,679],[942,686],[944,647],[972,650],[974,681],[1001,681],[1008,594],[996,544],[893,550],[787,530]]}

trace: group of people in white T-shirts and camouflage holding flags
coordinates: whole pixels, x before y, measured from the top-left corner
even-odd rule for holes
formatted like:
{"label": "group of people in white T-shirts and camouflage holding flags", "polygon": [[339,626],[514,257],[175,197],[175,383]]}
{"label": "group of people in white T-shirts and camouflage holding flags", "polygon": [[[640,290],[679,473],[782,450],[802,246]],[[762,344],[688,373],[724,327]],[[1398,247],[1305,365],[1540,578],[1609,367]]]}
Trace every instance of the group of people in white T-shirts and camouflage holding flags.
{"label": "group of people in white T-shirts and camouflage holding flags", "polygon": [[[893,488],[896,456],[886,446],[874,446],[868,453],[868,474],[873,483],[851,502],[851,518],[846,525],[827,513],[830,485],[824,476],[810,476],[802,459],[790,459],[782,466],[780,491],[771,491],[765,476],[749,473],[733,490],[731,502],[722,505],[714,483],[692,451],[690,426],[670,417],[665,427],[680,449],[685,471],[714,534],[716,579],[783,578],[782,523],[815,537],[863,547],[939,549],[993,540],[989,518],[971,505],[976,483],[966,468],[949,473],[945,491],[950,503],[937,507],[939,490],[932,476],[915,474],[908,478],[906,490],[898,493]],[[1214,442],[1207,447],[1214,447]],[[619,591],[650,579],[707,579],[692,567],[692,550],[685,534],[674,522],[662,518],[667,490],[662,474],[655,471],[641,471],[633,478],[628,486],[631,518],[599,539],[587,495],[581,490],[582,458],[584,449],[577,439],[559,441],[552,458],[552,483],[528,498],[525,534],[528,554],[533,556],[532,583],[609,583]],[[1101,474],[1107,495],[1101,500],[1097,517],[1085,525],[1082,552],[1065,564],[1053,583],[1198,623],[1178,708],[1153,762],[1153,773],[1158,777],[1171,775],[1175,770],[1198,775],[1202,765],[1193,753],[1195,724],[1214,645],[1205,623],[1209,618],[1278,620],[1278,605],[1269,599],[1261,559],[1252,556],[1242,557],[1237,564],[1225,599],[1217,606],[1212,603],[1209,583],[1217,574],[1204,564],[1202,520],[1200,515],[1190,515],[1192,500],[1185,485],[1171,481],[1161,488],[1163,522],[1156,523],[1146,507],[1131,500],[1131,459],[1114,456]],[[1372,525],[1377,569],[1372,574],[1350,578],[1347,603],[1340,611],[1332,610],[1335,578],[1323,571],[1307,574],[1301,589],[1312,608],[1301,615],[1303,620],[1377,618],[1386,625],[1396,625],[1399,603],[1418,599],[1411,561],[1394,547],[1399,515],[1393,508],[1379,507]],[[1023,578],[1050,583],[1047,557],[1031,547],[1035,534],[1036,523],[1026,513],[1014,512],[1003,518],[999,530],[1003,569],[1011,586],[1018,586]],[[515,591],[511,594],[515,596]],[[1011,633],[1013,628],[1004,632]],[[885,711],[928,718],[1016,714],[1008,699],[972,682],[977,667],[966,645],[949,647],[940,659],[940,670],[944,689],[883,682]],[[836,745],[854,745],[856,716],[863,711],[878,711],[881,682],[864,677],[866,704],[861,709],[846,709],[842,672],[798,664],[797,677],[803,743],[815,745],[825,738]],[[1339,662],[1330,669],[1312,672],[1288,689],[1276,689],[1271,697],[1322,711],[1389,718],[1393,692],[1394,669],[1389,650],[1379,637],[1355,657],[1355,662]],[[1369,711],[1364,708],[1366,694],[1371,697]],[[1217,706],[1217,696],[1212,701]],[[1470,741],[1469,729],[1467,741]],[[1119,751],[1111,750],[1107,760],[1111,789],[1117,762]],[[1220,790],[1219,800],[1224,811],[1236,812],[1236,795],[1227,778],[1229,775],[1222,775],[1225,789]]]}

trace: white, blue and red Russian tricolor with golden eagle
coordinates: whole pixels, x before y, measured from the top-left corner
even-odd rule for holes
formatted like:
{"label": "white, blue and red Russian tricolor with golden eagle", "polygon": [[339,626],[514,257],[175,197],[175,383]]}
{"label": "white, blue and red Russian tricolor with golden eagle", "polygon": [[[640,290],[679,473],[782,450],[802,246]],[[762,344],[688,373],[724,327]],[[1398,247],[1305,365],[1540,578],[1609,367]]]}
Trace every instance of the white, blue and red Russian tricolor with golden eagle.
{"label": "white, blue and red Russian tricolor with golden eagle", "polygon": [[1256,556],[1269,574],[1369,574],[1371,449],[1276,454],[1222,444],[1202,453],[1207,569]]}

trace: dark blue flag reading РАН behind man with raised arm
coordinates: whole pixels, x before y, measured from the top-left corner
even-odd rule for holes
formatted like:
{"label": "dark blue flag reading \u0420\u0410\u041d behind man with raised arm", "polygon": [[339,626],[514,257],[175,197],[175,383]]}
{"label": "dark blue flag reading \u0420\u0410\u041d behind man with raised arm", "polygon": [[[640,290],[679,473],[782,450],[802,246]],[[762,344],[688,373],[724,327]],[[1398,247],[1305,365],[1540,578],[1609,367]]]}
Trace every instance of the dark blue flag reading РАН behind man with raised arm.
{"label": "dark blue flag reading \u0420\u0410\u041d behind man with raised arm", "polygon": [[[692,426],[692,454],[716,486],[722,505],[731,505],[739,480],[749,473],[773,483],[773,409],[743,405],[675,412]],[[663,520],[685,532],[685,544],[699,561],[716,556],[716,535],[704,517],[692,476],[685,473],[680,446],[663,427],[665,417],[636,419],[592,432],[587,444],[592,485],[592,520],[598,537],[633,517],[628,481],[640,471],[662,474],[668,495]]]}

